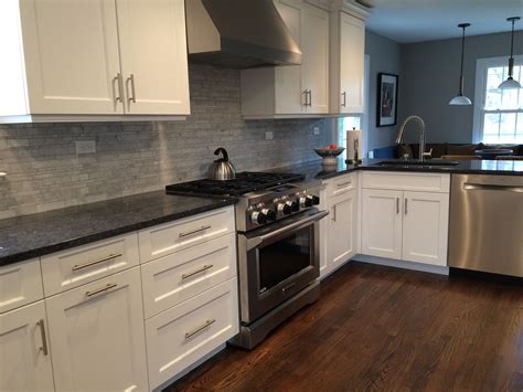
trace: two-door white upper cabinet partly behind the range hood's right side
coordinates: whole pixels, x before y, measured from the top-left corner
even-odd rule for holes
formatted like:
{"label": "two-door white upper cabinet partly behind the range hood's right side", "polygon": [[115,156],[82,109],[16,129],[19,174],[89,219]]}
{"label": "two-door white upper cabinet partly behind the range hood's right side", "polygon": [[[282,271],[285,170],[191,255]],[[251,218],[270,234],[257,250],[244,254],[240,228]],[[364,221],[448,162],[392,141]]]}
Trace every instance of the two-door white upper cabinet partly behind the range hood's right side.
{"label": "two-door white upper cabinet partly behind the range hood's right side", "polygon": [[302,52],[301,65],[243,70],[244,118],[285,118],[329,113],[329,12],[302,0],[275,0]]}

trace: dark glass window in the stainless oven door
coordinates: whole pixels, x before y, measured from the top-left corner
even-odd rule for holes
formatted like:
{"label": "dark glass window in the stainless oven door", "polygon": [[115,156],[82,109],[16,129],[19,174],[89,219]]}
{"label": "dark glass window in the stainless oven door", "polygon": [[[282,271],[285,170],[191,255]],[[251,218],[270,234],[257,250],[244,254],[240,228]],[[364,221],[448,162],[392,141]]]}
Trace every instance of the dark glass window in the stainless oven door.
{"label": "dark glass window in the stainless oven door", "polygon": [[259,293],[264,293],[311,265],[312,227],[258,250]]}

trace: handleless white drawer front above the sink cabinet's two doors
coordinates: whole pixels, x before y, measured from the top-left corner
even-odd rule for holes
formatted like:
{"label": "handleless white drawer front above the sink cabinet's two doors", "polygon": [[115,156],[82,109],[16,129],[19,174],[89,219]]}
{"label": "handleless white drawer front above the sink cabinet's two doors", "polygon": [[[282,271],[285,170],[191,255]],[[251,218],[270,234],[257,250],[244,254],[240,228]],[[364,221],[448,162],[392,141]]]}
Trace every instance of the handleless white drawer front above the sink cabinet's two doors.
{"label": "handleless white drawer front above the sink cabinet's two doors", "polygon": [[363,173],[363,188],[448,193],[450,174],[373,171]]}

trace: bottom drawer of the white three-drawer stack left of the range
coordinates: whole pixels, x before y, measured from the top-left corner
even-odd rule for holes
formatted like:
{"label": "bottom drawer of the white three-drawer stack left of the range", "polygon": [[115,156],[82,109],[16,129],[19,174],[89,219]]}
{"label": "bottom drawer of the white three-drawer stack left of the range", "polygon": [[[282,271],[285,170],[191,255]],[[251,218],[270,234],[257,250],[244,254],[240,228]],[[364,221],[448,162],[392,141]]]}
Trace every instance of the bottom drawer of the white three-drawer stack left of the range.
{"label": "bottom drawer of the white three-drawer stack left of the range", "polygon": [[147,320],[150,389],[173,378],[238,330],[236,278]]}

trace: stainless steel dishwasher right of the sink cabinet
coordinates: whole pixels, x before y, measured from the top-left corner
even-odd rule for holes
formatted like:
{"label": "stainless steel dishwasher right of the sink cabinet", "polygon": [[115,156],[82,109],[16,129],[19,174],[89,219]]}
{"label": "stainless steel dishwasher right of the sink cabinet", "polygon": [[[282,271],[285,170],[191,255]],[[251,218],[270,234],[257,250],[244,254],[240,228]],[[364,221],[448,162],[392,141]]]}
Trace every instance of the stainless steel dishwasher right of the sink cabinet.
{"label": "stainless steel dishwasher right of the sink cabinet", "polygon": [[449,266],[523,277],[523,177],[452,174]]}

